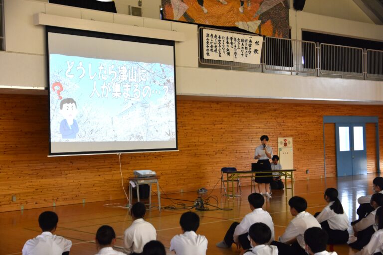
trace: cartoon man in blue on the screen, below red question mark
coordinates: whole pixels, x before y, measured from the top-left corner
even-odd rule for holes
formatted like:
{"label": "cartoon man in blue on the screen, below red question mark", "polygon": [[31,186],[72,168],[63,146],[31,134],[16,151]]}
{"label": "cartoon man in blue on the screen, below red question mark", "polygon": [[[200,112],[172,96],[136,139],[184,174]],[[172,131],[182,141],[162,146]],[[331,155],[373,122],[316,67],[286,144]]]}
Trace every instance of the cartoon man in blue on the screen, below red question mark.
{"label": "cartoon man in blue on the screen, below red question mark", "polygon": [[60,102],[60,113],[64,120],[60,123],[62,138],[76,138],[78,133],[77,121],[74,119],[77,114],[77,104],[73,98],[65,98]]}

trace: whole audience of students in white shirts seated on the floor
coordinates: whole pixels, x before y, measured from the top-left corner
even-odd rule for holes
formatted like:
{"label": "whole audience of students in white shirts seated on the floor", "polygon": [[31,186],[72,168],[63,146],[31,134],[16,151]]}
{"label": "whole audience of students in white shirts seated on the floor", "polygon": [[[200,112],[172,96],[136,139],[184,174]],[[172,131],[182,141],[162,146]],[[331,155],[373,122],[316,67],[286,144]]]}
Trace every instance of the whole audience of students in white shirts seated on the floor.
{"label": "whole audience of students in white shirts seated on the floor", "polygon": [[[357,241],[349,244],[360,250],[358,255],[383,254],[383,177],[373,181],[374,192],[369,208],[366,197],[358,199],[360,218],[352,222]],[[324,193],[328,205],[315,216],[306,212],[304,198],[294,196],[288,204],[294,216],[285,232],[274,240],[274,223],[270,214],[262,209],[265,202],[259,193],[248,196],[251,212],[240,223],[234,222],[219,248],[230,248],[233,243],[243,249],[241,255],[337,255],[327,252],[328,244],[346,244],[349,240],[349,221],[338,199],[338,191],[328,188]],[[364,211],[363,211],[364,210]],[[97,255],[166,255],[164,245],[156,241],[156,229],[145,221],[145,205],[137,202],[131,208],[132,225],[124,232],[124,253],[113,250],[116,234],[112,227],[101,226],[96,233]],[[43,212],[38,219],[42,234],[28,240],[22,249],[23,255],[68,255],[71,241],[53,235],[58,217],[54,212]],[[186,212],[180,218],[183,234],[173,237],[170,251],[177,255],[206,255],[207,239],[196,234],[199,217]]]}

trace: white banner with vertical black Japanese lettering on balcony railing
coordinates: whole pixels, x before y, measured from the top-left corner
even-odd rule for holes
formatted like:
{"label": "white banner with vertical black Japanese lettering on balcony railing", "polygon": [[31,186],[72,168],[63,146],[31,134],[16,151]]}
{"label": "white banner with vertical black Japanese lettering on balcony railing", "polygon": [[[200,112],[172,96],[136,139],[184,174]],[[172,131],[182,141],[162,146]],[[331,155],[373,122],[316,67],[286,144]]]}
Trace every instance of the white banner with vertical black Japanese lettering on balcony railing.
{"label": "white banner with vertical black Japanese lettering on balcony railing", "polygon": [[262,36],[202,29],[204,59],[259,65],[262,42]]}

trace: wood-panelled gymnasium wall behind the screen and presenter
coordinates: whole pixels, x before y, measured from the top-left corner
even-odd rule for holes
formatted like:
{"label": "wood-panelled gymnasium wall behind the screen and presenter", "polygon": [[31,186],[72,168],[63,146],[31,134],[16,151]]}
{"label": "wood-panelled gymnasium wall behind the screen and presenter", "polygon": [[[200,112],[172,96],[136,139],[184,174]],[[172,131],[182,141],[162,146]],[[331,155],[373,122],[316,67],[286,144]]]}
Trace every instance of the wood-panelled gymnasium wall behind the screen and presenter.
{"label": "wood-panelled gymnasium wall behind the screen and presenter", "polygon": [[[379,116],[383,134],[383,106],[188,100],[177,104],[180,151],[122,154],[125,189],[135,169],[156,171],[166,193],[211,189],[221,167],[249,169],[262,134],[269,135],[275,153],[278,136],[293,137],[297,180],[323,178],[323,116]],[[0,212],[125,197],[117,155],[47,157],[47,96],[0,94],[0,109]],[[330,177],[336,175],[331,124],[325,132]],[[371,137],[368,131],[369,171],[375,172]],[[382,152],[383,142],[381,167]]]}

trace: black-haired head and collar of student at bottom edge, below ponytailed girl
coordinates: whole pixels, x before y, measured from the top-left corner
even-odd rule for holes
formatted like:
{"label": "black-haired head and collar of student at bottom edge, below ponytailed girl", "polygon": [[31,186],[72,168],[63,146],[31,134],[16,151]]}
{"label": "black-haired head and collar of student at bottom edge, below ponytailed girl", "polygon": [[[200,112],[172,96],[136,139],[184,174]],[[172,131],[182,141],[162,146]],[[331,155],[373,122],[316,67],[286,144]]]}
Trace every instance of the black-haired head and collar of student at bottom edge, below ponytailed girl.
{"label": "black-haired head and collar of student at bottom edge, below ponytailed girl", "polygon": [[309,228],[305,231],[304,239],[306,243],[306,252],[309,255],[337,255],[336,252],[326,251],[328,244],[328,235],[321,228]]}

